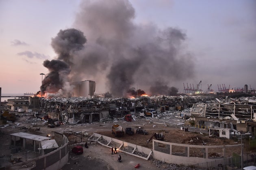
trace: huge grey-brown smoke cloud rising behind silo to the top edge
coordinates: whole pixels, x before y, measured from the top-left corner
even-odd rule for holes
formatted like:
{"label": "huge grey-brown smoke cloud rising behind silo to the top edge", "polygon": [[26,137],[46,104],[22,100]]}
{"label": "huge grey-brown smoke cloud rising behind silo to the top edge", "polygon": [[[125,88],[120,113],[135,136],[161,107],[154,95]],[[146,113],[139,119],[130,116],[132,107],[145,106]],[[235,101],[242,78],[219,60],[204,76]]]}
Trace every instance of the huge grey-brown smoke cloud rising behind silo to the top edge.
{"label": "huge grey-brown smoke cloud rising behind silo to the top edge", "polygon": [[[179,28],[136,24],[134,19],[128,0],[82,1],[74,22],[82,32],[61,30],[52,39],[57,60],[69,66],[67,80],[93,80],[96,92],[101,88],[113,97],[128,97],[135,86],[148,95],[177,93],[169,86],[194,72],[193,58],[184,49],[186,34]],[[63,85],[63,80],[58,81]]]}

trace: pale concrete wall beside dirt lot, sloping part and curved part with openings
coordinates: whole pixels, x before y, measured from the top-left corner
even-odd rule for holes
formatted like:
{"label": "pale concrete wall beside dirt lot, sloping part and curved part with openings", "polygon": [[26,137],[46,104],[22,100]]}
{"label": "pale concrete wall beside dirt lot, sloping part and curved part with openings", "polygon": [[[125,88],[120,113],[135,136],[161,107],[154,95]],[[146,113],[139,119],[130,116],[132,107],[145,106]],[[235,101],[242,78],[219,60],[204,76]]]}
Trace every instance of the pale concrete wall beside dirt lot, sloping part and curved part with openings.
{"label": "pale concrete wall beside dirt lot, sloping part and curved part with openings", "polygon": [[[226,157],[227,153],[226,150],[230,150],[232,148],[236,148],[236,147],[241,147],[241,144],[237,144],[237,145],[229,145],[229,146],[200,146],[200,145],[187,145],[187,144],[176,144],[176,143],[169,143],[169,142],[164,142],[164,141],[160,141],[160,140],[152,140],[153,141],[153,150],[151,150],[150,148],[145,148],[143,146],[138,146],[136,144],[131,144],[128,142],[124,142],[122,140],[117,140],[114,138],[110,138],[108,136],[102,136],[98,133],[94,133],[95,138],[99,139],[99,138],[103,138],[104,140],[106,140],[108,142],[108,144],[111,143],[111,141],[113,142],[117,142],[119,143],[121,146],[130,146],[135,148],[135,150],[137,150],[138,152],[143,152],[145,154],[148,154],[148,157],[141,157],[139,155],[135,155],[133,153],[128,153],[126,151],[122,151],[124,153],[136,156],[136,157],[140,157],[142,159],[146,159],[148,160],[149,157],[152,155],[152,157],[154,159],[158,159],[160,161],[165,161],[167,163],[170,164],[178,164],[178,165],[184,165],[184,166],[189,166],[189,165],[194,165],[194,164],[202,164],[202,163],[206,163],[209,161],[215,161],[215,164],[223,164],[223,161],[228,160],[224,158]],[[98,143],[102,144],[101,142],[97,141]],[[161,146],[161,144],[163,144],[163,146]],[[111,146],[108,146],[106,144],[102,144],[106,147],[111,148]],[[172,148],[176,148],[176,147],[182,147],[184,148],[184,153],[182,153],[181,155],[185,155],[185,156],[179,156],[179,155],[174,155]],[[193,151],[193,148],[196,149],[200,149],[201,151],[204,152],[203,157],[192,157],[190,156],[190,152]],[[217,158],[208,158],[208,149],[221,149],[222,153],[220,157]]]}

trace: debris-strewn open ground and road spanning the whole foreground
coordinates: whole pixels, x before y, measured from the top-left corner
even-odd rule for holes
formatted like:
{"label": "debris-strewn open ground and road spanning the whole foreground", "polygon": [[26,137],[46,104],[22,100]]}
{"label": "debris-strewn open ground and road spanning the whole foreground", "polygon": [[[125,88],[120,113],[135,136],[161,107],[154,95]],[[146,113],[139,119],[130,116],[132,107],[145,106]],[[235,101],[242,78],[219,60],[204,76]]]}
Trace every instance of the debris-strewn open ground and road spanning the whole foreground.
{"label": "debris-strewn open ground and road spanning the whole foreground", "polygon": [[[237,138],[233,139],[219,139],[219,138],[209,138],[208,130],[206,129],[199,129],[195,127],[187,126],[189,131],[182,131],[180,130],[181,126],[179,125],[182,123],[183,120],[180,118],[176,118],[175,115],[166,119],[155,119],[155,118],[136,118],[136,121],[132,122],[126,122],[124,120],[106,120],[103,122],[96,122],[91,124],[66,124],[61,125],[59,127],[49,128],[46,126],[46,124],[43,124],[43,121],[40,121],[39,119],[30,117],[30,116],[23,116],[18,118],[18,120],[15,123],[9,123],[10,125],[8,127],[5,127],[3,129],[0,129],[0,150],[1,150],[1,157],[9,157],[11,155],[10,149],[9,149],[9,142],[10,142],[10,136],[11,133],[17,133],[17,132],[25,132],[25,133],[33,133],[36,135],[46,136],[48,133],[54,134],[53,131],[59,132],[59,133],[65,133],[69,136],[70,144],[73,144],[74,141],[80,142],[86,142],[93,134],[100,133],[104,136],[109,136],[111,138],[117,138],[119,140],[123,140],[132,144],[137,144],[140,146],[152,148],[152,140],[147,144],[147,140],[152,136],[153,133],[163,133],[165,136],[164,141],[166,142],[172,142],[172,143],[181,143],[181,144],[192,144],[192,145],[234,145],[234,144],[240,144],[240,140],[238,141]],[[19,123],[19,125],[17,125]],[[119,124],[124,129],[126,127],[132,127],[132,129],[136,130],[137,128],[142,128],[148,131],[148,135],[142,135],[142,134],[134,134],[132,136],[129,136],[128,134],[124,134],[122,137],[115,137],[114,134],[111,132],[111,127],[114,124]],[[26,127],[26,128],[24,128]],[[36,131],[36,128],[39,128],[39,131]],[[78,135],[74,136],[72,134]],[[88,136],[82,136],[82,133],[88,133]],[[80,138],[80,136],[82,138]],[[153,137],[153,139],[155,139]],[[244,153],[246,152],[252,152],[248,151],[247,146],[249,146],[248,141],[243,140],[243,143],[245,144]],[[96,144],[97,145],[97,144]],[[84,169],[85,167],[96,170],[96,169],[108,169],[108,170],[118,170],[118,169],[132,169],[137,163],[141,163],[140,169],[154,169],[156,165],[152,164],[152,161],[146,161],[143,159],[139,159],[137,157],[133,157],[131,155],[127,155],[124,153],[122,154],[122,157],[124,158],[121,165],[126,168],[120,168],[119,162],[117,162],[117,155],[111,155],[111,152],[109,148],[106,148],[104,146],[96,146],[96,145],[90,145],[89,148],[84,148],[85,152],[82,155],[74,155],[72,152],[69,152],[69,162],[66,166],[63,167],[63,170],[67,169]],[[98,144],[99,145],[99,144]],[[70,147],[70,149],[72,146]],[[238,147],[236,149],[232,149],[228,151],[229,155],[232,155],[232,153],[237,153],[240,155],[241,153],[241,147]],[[254,151],[255,152],[255,151]],[[211,151],[209,150],[209,154],[211,156],[219,156],[219,153],[221,151]],[[194,151],[193,155],[201,155],[201,151]],[[139,159],[139,161],[138,161]],[[163,166],[163,165],[162,165]],[[151,168],[149,168],[151,167]],[[164,166],[162,167],[165,168]]]}

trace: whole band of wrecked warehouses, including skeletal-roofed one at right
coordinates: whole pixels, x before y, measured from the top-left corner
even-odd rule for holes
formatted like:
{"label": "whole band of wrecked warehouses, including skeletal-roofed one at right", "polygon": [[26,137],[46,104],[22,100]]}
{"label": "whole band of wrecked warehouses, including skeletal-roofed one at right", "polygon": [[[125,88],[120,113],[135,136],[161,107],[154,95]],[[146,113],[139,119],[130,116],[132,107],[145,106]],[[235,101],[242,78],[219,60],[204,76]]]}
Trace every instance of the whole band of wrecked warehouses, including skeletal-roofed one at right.
{"label": "whole band of wrecked warehouses, including skeletal-roofed one at right", "polygon": [[[93,123],[108,118],[161,118],[172,111],[180,112],[185,124],[210,129],[211,135],[223,129],[256,133],[255,97],[218,99],[205,96],[153,96],[127,98],[52,98],[43,101],[44,112],[64,123]],[[152,111],[153,110],[153,111]],[[189,110],[188,112],[184,112]],[[154,113],[153,113],[154,112]],[[145,114],[142,114],[145,113]],[[147,114],[151,113],[151,114]],[[213,133],[214,131],[214,133]],[[226,133],[226,132],[223,132]],[[230,135],[227,138],[230,138]],[[220,137],[220,136],[219,136]]]}

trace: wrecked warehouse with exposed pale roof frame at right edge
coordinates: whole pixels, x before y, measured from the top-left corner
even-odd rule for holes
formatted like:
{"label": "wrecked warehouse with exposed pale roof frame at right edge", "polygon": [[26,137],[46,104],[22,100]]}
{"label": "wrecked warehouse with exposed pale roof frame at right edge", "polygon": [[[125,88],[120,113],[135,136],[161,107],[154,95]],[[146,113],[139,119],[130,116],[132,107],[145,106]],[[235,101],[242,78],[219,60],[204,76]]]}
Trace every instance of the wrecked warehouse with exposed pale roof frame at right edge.
{"label": "wrecked warehouse with exposed pale roof frame at right edge", "polygon": [[191,108],[191,118],[187,124],[200,128],[229,128],[250,131],[256,134],[256,105],[254,100],[236,99],[221,103],[196,103]]}

